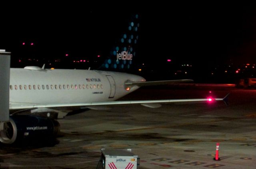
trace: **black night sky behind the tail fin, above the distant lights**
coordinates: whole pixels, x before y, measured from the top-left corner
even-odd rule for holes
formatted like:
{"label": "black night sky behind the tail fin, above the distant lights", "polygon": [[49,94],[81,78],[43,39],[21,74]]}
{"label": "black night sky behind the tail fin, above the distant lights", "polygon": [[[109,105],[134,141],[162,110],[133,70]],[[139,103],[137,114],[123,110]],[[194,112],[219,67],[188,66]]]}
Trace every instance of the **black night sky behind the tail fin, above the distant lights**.
{"label": "black night sky behind the tail fin, above the distant lights", "polygon": [[[130,14],[140,15],[138,57],[161,67],[174,63],[214,67],[256,63],[256,4],[246,2],[135,2],[20,4],[1,14],[0,49],[13,58],[108,55]],[[111,7],[112,6],[112,7]],[[34,43],[22,46],[25,42]]]}

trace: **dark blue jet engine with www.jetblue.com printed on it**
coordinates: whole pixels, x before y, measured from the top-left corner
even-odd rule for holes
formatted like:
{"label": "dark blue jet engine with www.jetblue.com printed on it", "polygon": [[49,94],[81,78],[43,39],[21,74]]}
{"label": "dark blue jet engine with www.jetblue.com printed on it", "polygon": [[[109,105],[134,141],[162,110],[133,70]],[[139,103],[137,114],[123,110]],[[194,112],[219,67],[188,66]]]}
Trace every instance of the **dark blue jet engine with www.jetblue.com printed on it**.
{"label": "dark blue jet engine with www.jetblue.com printed on it", "polygon": [[0,131],[0,142],[12,144],[24,139],[56,138],[60,131],[58,121],[32,115],[10,116]]}

